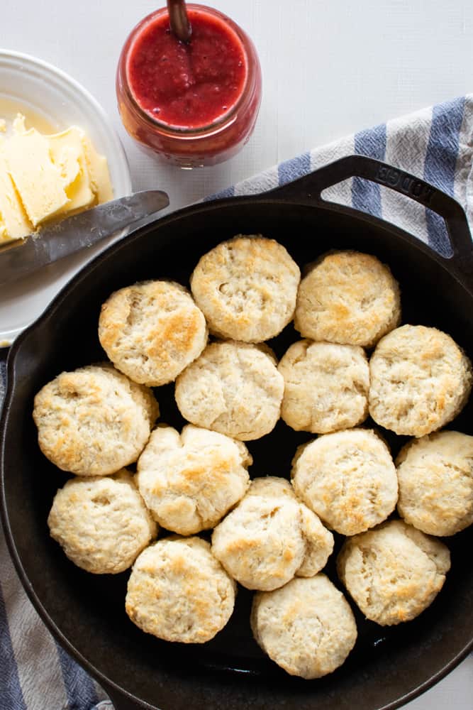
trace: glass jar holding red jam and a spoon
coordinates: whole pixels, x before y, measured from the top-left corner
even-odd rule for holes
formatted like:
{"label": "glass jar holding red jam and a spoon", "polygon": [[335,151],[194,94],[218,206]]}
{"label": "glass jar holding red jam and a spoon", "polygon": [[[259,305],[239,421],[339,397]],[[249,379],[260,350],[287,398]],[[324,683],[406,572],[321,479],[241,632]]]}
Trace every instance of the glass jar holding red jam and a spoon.
{"label": "glass jar holding red jam and a spoon", "polygon": [[[230,18],[204,5],[189,3],[187,11],[191,26],[193,19],[213,24],[220,23],[227,35],[235,42],[235,47],[238,45],[238,51],[241,51],[246,70],[245,78],[236,100],[228,110],[208,121],[206,125],[193,126],[192,121],[189,120],[188,126],[184,124],[176,126],[151,115],[150,109],[143,107],[143,102],[140,105],[130,82],[130,58],[133,58],[133,50],[137,43],[145,37],[143,33],[148,31],[149,34],[152,30],[151,26],[162,25],[164,18],[168,17],[166,8],[145,17],[128,36],[118,62],[116,93],[118,110],[130,136],[171,163],[182,168],[195,168],[228,160],[238,153],[250,138],[261,103],[261,69],[252,41]],[[169,33],[169,30],[166,32]],[[175,42],[177,43],[177,40]],[[181,43],[179,45],[181,53],[187,51],[184,45]],[[153,111],[160,111],[160,109],[153,109]]]}

